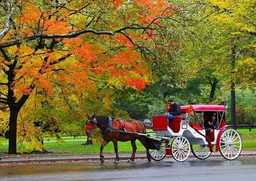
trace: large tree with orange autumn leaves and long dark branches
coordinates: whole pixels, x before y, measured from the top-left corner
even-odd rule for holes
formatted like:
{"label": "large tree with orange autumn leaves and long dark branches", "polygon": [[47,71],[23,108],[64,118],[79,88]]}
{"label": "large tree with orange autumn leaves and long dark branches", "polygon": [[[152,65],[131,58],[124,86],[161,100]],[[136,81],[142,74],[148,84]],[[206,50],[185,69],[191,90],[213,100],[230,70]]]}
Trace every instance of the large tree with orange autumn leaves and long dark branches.
{"label": "large tree with orange autumn leaves and long dark branches", "polygon": [[105,97],[142,90],[150,81],[145,60],[155,68],[159,53],[174,51],[167,35],[183,14],[167,0],[0,0],[0,12],[0,110],[10,115],[9,153],[16,153],[18,115],[31,95],[65,100],[61,91],[75,90],[90,101],[98,90]]}

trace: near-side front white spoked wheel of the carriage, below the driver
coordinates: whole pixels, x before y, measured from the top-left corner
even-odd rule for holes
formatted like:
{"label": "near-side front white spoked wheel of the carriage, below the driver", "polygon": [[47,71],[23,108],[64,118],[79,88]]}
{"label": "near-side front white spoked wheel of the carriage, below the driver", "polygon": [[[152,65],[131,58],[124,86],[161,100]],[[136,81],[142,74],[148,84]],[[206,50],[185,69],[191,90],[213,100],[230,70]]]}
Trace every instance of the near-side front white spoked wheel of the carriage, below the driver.
{"label": "near-side front white spoked wheel of the carriage, below the driver", "polygon": [[190,144],[187,138],[183,136],[178,136],[174,138],[171,143],[171,155],[172,157],[178,161],[185,161],[190,154]]}

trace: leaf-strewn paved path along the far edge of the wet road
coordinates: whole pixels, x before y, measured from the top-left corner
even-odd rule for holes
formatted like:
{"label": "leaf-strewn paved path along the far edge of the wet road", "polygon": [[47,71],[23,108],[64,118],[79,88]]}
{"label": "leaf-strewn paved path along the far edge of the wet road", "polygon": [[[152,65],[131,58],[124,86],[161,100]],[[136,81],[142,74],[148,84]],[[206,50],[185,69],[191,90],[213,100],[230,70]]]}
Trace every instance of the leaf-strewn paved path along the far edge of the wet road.
{"label": "leaf-strewn paved path along the far edge of the wet road", "polygon": [[[106,160],[114,159],[115,154],[104,154]],[[127,160],[131,153],[119,153],[120,160]],[[191,157],[194,157],[191,153]],[[220,152],[212,152],[210,157],[221,157]],[[256,157],[256,150],[242,150],[240,157]],[[75,155],[39,155],[39,156],[15,156],[1,157],[0,164],[4,163],[27,163],[27,162],[71,162],[79,160],[100,161],[100,154],[75,154]],[[167,155],[166,158],[171,158]],[[146,159],[146,152],[136,153],[136,159]]]}

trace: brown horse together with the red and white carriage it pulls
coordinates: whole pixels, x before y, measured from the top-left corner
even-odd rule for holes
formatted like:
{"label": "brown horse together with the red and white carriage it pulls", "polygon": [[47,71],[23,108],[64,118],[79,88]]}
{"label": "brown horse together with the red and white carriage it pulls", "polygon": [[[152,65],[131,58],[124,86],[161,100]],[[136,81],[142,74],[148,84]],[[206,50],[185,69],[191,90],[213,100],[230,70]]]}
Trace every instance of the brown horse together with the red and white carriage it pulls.
{"label": "brown horse together with the red and white carriage it pulls", "polygon": [[[217,126],[206,134],[204,121],[215,113]],[[192,152],[198,159],[206,159],[212,152],[220,152],[227,160],[236,159],[242,149],[239,133],[226,125],[224,105],[185,105],[181,106],[181,115],[169,121],[167,115],[152,117],[152,130],[155,135],[146,133],[146,127],[136,120],[124,121],[111,119],[109,116],[88,115],[85,127],[87,135],[98,127],[102,133],[103,142],[100,146],[100,161],[104,162],[103,148],[110,141],[115,148],[115,162],[118,163],[117,142],[131,141],[132,155],[128,162],[134,162],[136,139],[146,148],[148,161],[161,161],[166,155],[178,161],[185,161]],[[127,127],[126,127],[127,126]]]}

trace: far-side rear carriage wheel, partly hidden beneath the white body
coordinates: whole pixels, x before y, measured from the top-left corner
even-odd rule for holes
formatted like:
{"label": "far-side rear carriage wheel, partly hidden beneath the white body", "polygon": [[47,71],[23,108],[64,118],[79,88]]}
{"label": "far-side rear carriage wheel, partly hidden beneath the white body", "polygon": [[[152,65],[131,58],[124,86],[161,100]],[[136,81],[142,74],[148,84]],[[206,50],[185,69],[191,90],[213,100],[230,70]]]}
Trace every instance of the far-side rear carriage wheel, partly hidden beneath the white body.
{"label": "far-side rear carriage wheel, partly hidden beneath the white body", "polygon": [[191,146],[191,152],[198,159],[206,159],[211,155],[210,148],[206,144],[193,144]]}

